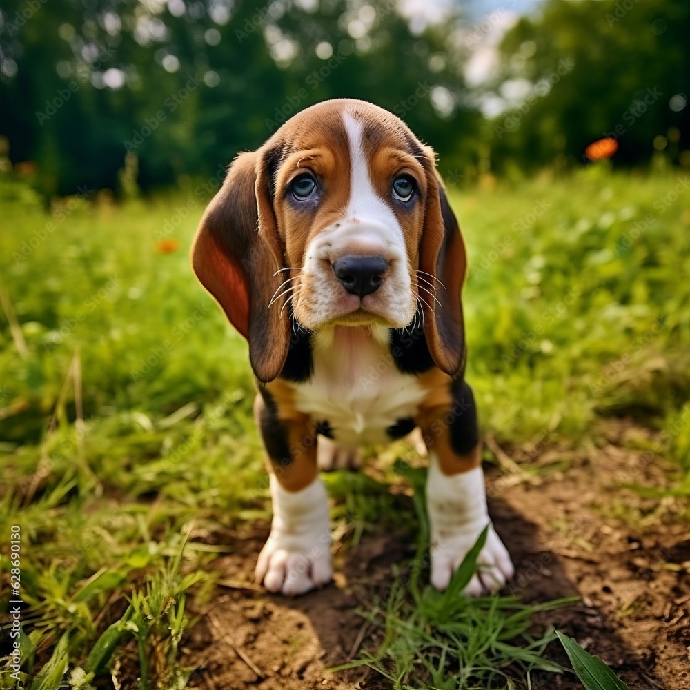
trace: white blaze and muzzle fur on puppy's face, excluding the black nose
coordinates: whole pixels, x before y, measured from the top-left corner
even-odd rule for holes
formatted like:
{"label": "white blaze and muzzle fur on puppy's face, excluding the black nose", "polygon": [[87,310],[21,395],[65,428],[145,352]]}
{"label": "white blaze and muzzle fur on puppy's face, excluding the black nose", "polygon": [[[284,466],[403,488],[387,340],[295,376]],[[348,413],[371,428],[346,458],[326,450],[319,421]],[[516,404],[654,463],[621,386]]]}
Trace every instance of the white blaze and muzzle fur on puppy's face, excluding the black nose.
{"label": "white blaze and muzzle fur on puppy's face, excluding the black nose", "polygon": [[[306,248],[302,275],[319,286],[299,297],[296,311],[307,328],[337,323],[346,313],[364,308],[395,328],[407,326],[415,315],[417,301],[411,289],[404,234],[391,206],[371,183],[369,164],[362,146],[362,123],[346,112],[344,127],[350,149],[350,197],[344,214],[324,228]],[[333,268],[347,255],[377,255],[389,262],[382,286],[362,299],[346,295]],[[308,300],[308,309],[299,305]]]}

